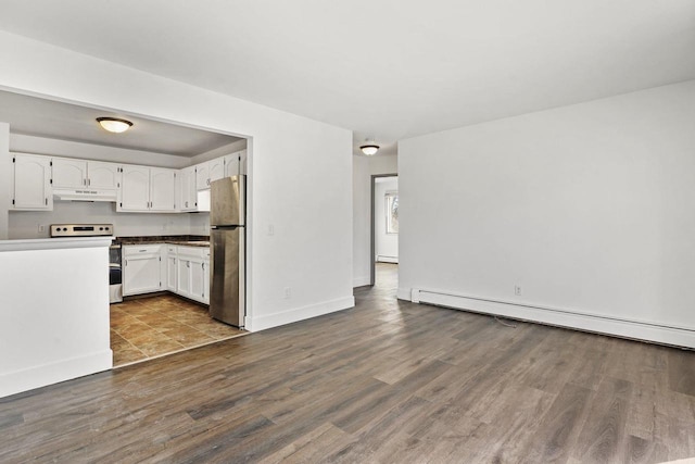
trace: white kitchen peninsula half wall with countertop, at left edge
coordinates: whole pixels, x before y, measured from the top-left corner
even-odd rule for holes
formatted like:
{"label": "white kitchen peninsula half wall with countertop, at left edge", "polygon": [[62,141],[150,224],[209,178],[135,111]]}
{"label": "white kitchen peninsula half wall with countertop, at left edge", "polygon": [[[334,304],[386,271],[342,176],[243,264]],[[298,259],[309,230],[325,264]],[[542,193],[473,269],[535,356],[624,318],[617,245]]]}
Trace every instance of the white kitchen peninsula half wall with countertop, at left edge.
{"label": "white kitchen peninsula half wall with countertop, at left edge", "polygon": [[0,398],[112,367],[111,240],[0,240]]}

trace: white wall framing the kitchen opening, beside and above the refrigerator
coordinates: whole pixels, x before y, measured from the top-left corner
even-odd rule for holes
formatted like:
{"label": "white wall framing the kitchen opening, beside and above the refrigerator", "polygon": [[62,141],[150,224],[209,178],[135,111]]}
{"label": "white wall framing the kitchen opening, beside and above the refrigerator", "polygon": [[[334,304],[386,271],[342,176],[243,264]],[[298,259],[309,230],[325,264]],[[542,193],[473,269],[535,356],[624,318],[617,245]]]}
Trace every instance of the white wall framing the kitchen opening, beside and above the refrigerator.
{"label": "white wall framing the kitchen opening, beside and above the refrigerator", "polygon": [[349,130],[4,32],[0,52],[1,88],[253,137],[251,330],[354,305]]}

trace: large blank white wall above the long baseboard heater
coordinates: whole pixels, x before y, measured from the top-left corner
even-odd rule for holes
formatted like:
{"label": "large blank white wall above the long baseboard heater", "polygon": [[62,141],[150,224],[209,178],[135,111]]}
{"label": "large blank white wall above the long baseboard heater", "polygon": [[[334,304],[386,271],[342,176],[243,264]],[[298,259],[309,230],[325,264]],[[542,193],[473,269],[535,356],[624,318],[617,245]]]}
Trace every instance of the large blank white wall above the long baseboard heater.
{"label": "large blank white wall above the long baseboard heater", "polygon": [[691,80],[401,141],[400,298],[695,343],[694,121]]}

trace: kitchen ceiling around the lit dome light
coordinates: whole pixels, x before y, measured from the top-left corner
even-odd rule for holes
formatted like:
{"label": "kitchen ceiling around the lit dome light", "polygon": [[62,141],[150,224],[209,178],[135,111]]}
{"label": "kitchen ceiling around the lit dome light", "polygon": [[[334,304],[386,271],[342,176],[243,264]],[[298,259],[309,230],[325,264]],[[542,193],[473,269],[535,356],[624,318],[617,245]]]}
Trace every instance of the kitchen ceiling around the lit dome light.
{"label": "kitchen ceiling around the lit dome light", "polygon": [[[123,134],[112,134],[99,126],[97,117],[100,116],[126,118],[134,124]],[[130,114],[7,91],[0,91],[0,121],[9,123],[13,134],[189,158],[240,140]]]}

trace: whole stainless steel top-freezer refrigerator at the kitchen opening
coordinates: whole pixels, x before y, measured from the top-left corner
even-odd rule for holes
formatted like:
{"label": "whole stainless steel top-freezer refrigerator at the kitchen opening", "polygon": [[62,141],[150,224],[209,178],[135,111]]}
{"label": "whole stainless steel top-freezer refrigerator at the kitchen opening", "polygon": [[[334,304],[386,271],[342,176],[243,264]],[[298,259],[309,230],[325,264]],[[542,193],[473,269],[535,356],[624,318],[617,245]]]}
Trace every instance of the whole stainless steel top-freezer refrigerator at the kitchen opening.
{"label": "whole stainless steel top-freezer refrigerator at the kitchen opening", "polygon": [[243,327],[247,176],[225,177],[210,187],[210,315]]}

